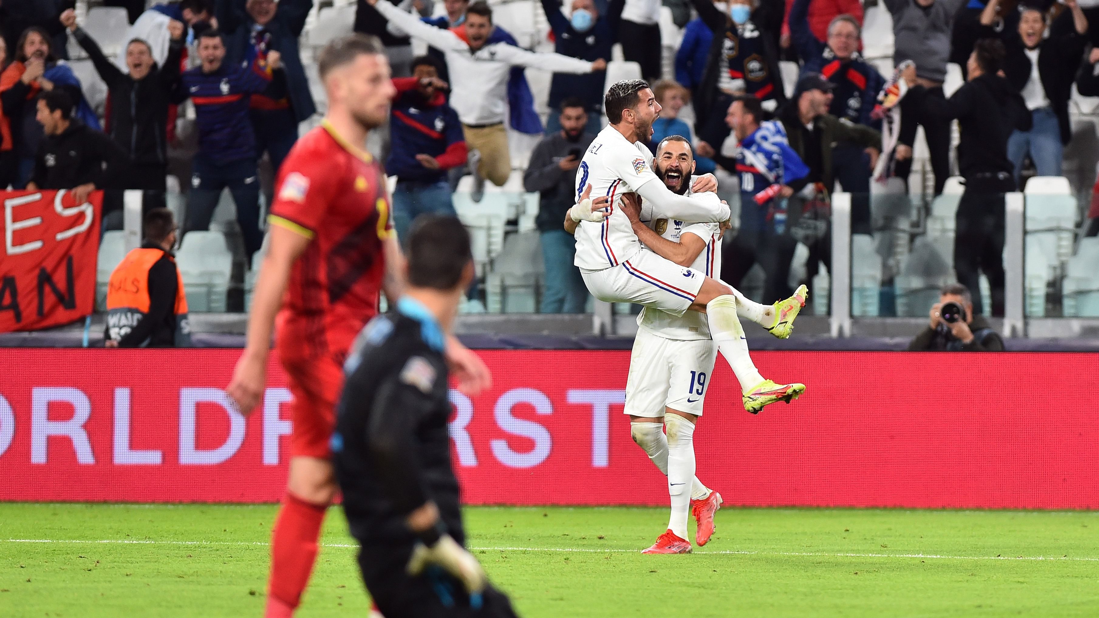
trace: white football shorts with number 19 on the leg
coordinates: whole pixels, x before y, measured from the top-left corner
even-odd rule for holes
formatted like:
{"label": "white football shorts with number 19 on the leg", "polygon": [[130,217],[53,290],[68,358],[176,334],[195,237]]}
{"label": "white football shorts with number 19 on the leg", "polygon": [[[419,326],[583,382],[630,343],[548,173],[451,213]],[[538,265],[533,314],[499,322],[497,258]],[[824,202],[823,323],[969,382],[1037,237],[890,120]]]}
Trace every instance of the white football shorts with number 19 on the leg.
{"label": "white football shorts with number 19 on the leg", "polygon": [[658,418],[664,408],[702,416],[718,346],[709,339],[665,339],[637,330],[625,380],[625,408],[635,417]]}

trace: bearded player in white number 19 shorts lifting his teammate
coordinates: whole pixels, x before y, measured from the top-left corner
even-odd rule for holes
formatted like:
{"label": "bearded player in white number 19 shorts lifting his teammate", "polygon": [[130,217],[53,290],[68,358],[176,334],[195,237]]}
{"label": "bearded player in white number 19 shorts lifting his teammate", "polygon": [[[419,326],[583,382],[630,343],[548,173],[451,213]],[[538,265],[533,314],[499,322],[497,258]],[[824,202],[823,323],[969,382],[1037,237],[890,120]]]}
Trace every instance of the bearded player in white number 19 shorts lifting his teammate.
{"label": "bearded player in white number 19 shorts lifting his teammate", "polygon": [[[695,170],[695,156],[690,143],[682,136],[671,135],[657,145],[653,170],[675,194],[710,203],[720,201],[712,192],[691,191],[688,187]],[[622,211],[646,249],[709,277],[717,278],[721,273],[721,236],[726,223],[669,219],[654,209],[652,202],[642,208],[634,194],[628,194],[622,200]],[[575,227],[571,219],[565,221],[567,230]],[[799,289],[791,298],[765,306],[742,298],[735,289],[733,294],[737,296],[739,313],[764,327],[775,324],[774,316],[796,312],[806,296],[804,290]],[[776,336],[789,334],[770,330]],[[695,515],[695,541],[699,547],[707,544],[714,532],[713,516],[721,508],[721,495],[695,476],[693,433],[698,417],[702,415],[715,356],[717,349],[702,313],[687,311],[676,317],[646,307],[637,316],[623,411],[630,416],[633,440],[667,475],[671,499],[667,531],[642,553],[689,553],[688,510]]]}

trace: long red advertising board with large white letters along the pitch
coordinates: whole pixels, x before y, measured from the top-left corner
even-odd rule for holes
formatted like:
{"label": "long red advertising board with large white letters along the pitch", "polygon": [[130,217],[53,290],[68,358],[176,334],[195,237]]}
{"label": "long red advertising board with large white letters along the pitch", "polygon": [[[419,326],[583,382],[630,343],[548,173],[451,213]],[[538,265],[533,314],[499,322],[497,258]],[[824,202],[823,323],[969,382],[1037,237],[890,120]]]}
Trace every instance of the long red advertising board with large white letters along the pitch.
{"label": "long red advertising board with large white letters along the pitch", "polygon": [[[289,393],[229,411],[236,350],[0,350],[0,499],[275,501]],[[628,352],[482,352],[452,394],[469,504],[663,505],[622,413]],[[763,352],[806,395],[752,416],[719,360],[698,476],[733,505],[1099,508],[1096,354]]]}

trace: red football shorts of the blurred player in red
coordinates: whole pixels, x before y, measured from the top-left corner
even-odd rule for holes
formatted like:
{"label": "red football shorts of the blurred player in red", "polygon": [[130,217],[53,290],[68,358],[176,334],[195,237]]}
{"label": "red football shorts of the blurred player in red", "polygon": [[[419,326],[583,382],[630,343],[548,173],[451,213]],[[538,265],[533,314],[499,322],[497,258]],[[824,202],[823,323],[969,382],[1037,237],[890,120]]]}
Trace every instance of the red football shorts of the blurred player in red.
{"label": "red football shorts of the blurred player in red", "polygon": [[279,355],[293,401],[290,456],[330,459],[329,442],[336,427],[336,401],[343,390],[343,367],[328,356]]}

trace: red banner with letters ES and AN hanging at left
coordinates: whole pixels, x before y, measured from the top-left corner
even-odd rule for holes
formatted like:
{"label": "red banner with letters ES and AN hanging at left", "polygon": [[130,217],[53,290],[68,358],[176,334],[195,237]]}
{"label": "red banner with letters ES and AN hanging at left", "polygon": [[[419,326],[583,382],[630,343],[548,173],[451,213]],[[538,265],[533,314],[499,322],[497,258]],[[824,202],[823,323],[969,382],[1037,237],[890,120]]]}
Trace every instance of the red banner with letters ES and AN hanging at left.
{"label": "red banner with letters ES and AN hanging at left", "polygon": [[77,205],[69,191],[0,191],[0,332],[80,319],[96,302],[102,191]]}

